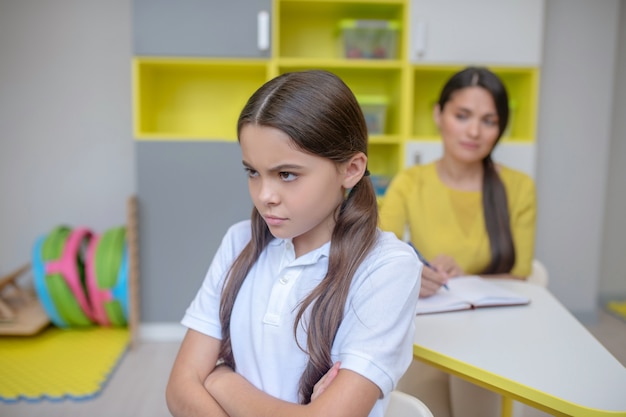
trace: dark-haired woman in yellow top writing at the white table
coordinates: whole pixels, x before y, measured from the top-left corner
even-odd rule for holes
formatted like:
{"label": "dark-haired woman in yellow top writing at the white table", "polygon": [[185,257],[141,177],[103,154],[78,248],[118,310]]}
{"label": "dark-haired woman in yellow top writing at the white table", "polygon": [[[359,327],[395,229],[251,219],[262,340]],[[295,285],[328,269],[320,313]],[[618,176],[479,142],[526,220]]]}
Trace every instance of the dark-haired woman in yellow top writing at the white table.
{"label": "dark-haired woman in yellow top writing at the white table", "polygon": [[410,240],[434,268],[424,268],[420,296],[454,276],[530,275],[535,187],[527,175],[496,165],[491,152],[509,117],[500,79],[466,68],[444,86],[434,117],[443,156],[398,174],[381,207],[381,228]]}

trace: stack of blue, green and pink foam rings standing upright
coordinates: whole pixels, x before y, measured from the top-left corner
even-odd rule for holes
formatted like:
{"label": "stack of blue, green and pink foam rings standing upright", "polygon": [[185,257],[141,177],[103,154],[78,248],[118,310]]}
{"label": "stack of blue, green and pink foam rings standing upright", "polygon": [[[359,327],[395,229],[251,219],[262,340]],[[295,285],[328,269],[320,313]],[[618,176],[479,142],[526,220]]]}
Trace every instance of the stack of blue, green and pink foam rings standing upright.
{"label": "stack of blue, green and pink foam rings standing upright", "polygon": [[128,247],[126,229],[98,236],[67,226],[41,236],[33,247],[34,286],[58,327],[128,323]]}

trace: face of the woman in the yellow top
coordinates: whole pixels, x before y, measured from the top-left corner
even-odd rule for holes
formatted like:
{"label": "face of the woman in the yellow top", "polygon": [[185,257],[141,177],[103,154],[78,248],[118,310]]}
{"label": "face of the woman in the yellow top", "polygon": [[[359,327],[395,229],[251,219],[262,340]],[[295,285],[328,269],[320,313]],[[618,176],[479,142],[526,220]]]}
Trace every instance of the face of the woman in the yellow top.
{"label": "face of the woman in the yellow top", "polygon": [[443,140],[444,156],[462,163],[482,161],[500,133],[493,97],[482,87],[452,93],[443,109],[435,108],[435,122]]}

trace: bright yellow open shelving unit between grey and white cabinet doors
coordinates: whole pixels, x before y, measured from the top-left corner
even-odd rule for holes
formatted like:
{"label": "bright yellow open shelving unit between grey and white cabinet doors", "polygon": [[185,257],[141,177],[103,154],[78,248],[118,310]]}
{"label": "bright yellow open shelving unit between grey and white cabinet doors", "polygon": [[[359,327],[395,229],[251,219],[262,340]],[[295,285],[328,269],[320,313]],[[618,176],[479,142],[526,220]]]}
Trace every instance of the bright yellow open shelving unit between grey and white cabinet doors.
{"label": "bright yellow open shelving unit between grey and white cabinet doors", "polygon": [[[410,0],[273,0],[267,58],[150,57],[133,60],[137,140],[236,140],[236,121],[248,97],[278,74],[326,69],[359,95],[384,96],[386,127],[370,137],[369,167],[392,177],[404,167],[407,141],[438,140],[433,105],[446,79],[466,66],[410,62]],[[383,19],[398,24],[397,56],[348,59],[340,22]],[[505,141],[535,141],[538,68],[491,67],[511,98]]]}

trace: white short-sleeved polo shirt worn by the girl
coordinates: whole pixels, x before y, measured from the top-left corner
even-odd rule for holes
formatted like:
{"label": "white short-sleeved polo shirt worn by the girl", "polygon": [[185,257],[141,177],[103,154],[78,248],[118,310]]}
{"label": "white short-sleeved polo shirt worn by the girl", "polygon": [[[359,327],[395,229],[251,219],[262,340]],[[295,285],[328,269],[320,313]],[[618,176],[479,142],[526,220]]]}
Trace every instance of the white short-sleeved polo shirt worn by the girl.
{"label": "white short-sleeved polo shirt worn by the girl", "polygon": [[[182,324],[222,338],[219,300],[228,269],[250,240],[250,221],[230,227]],[[294,340],[300,301],[324,278],[330,242],[295,259],[290,240],[273,239],[244,281],[231,317],[237,372],[264,392],[298,402],[298,382],[307,355]],[[382,391],[370,416],[382,417],[387,394],[413,357],[414,317],[421,263],[393,233],[380,232],[359,266],[344,318],[331,349],[332,361],[373,381]],[[308,317],[305,315],[305,317]],[[302,325],[297,333],[306,348]]]}

